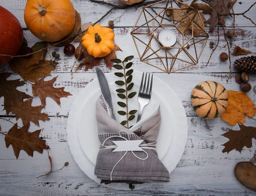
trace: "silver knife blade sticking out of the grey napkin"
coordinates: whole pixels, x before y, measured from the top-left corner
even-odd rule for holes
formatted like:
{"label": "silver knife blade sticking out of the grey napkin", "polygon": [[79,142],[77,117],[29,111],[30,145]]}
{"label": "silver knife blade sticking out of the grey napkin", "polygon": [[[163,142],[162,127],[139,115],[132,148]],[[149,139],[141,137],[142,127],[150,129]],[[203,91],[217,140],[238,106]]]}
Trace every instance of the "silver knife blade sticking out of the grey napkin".
{"label": "silver knife blade sticking out of the grey napkin", "polygon": [[98,80],[99,80],[99,86],[100,86],[100,89],[102,91],[102,95],[103,95],[103,97],[106,101],[108,109],[110,110],[111,118],[115,119],[113,105],[112,105],[111,92],[110,92],[110,89],[109,89],[109,86],[108,86],[108,80],[105,77],[105,74],[104,74],[104,72],[102,71],[101,68],[95,67],[95,69],[96,69],[97,77],[98,77]]}

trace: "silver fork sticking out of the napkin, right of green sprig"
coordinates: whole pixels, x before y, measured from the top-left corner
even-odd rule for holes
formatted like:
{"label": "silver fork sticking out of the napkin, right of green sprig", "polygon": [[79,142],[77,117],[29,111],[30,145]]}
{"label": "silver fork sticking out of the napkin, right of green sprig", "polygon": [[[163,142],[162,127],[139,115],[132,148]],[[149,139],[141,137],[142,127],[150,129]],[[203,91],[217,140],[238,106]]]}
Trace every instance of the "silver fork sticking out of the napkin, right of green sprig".
{"label": "silver fork sticking out of the napkin, right of green sprig", "polygon": [[145,107],[145,105],[148,105],[148,103],[151,99],[153,74],[146,73],[145,79],[144,79],[144,74],[145,74],[145,72],[143,72],[143,75],[142,75],[140,91],[139,91],[139,95],[138,95],[138,102],[140,103],[140,111],[138,114],[137,122],[140,121],[141,114],[143,112],[143,108]]}

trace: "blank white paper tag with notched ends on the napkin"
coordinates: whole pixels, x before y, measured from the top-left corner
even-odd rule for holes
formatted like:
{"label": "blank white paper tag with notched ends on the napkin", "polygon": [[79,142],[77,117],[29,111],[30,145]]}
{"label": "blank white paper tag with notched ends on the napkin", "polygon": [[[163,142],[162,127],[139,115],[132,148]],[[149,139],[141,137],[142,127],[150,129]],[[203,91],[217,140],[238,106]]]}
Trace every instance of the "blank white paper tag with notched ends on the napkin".
{"label": "blank white paper tag with notched ends on the napkin", "polygon": [[114,149],[112,152],[121,152],[121,151],[143,151],[140,148],[140,144],[143,140],[123,140],[123,141],[112,141],[117,148]]}

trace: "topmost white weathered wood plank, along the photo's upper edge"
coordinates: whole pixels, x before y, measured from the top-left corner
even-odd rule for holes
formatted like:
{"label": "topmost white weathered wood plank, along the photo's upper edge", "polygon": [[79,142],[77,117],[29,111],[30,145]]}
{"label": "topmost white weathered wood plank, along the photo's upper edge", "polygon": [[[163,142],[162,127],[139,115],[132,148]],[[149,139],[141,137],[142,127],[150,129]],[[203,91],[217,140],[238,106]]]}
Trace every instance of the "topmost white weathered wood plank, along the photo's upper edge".
{"label": "topmost white weathered wood plank, along the photo's upper edge", "polygon": [[[117,0],[106,0],[110,3],[115,3],[118,5],[123,5]],[[149,0],[148,0],[149,1]],[[81,15],[82,23],[88,23],[88,22],[95,22],[98,20],[103,14],[105,14],[109,9],[111,9],[111,6],[102,5],[99,3],[93,3],[89,0],[71,0],[73,3],[74,8],[79,12]],[[188,4],[191,3],[191,1],[187,2]],[[245,10],[247,10],[250,5],[254,3],[254,0],[243,0],[242,4],[239,4],[238,2],[234,5],[234,11],[235,13],[241,13]],[[26,24],[24,22],[24,8],[26,5],[26,0],[19,0],[15,1],[2,1],[1,6],[11,11],[20,21],[20,24],[22,27],[26,27]],[[116,17],[119,17],[125,10],[124,9],[114,9],[111,11],[111,14],[109,14],[107,17],[105,17],[102,22],[100,23],[103,26],[108,26],[108,21],[113,20]],[[116,23],[115,26],[134,26],[139,14],[141,11],[141,7],[138,9],[135,9],[134,7],[128,9],[126,13],[122,16],[119,23]],[[256,21],[256,15],[254,14],[255,8],[252,8],[246,15],[247,17],[250,17],[253,21]],[[207,14],[206,18],[209,18],[209,14]],[[233,19],[231,17],[226,17],[226,26],[233,26]],[[245,19],[242,16],[236,16],[236,26],[254,26],[253,23],[251,23],[249,20]]]}

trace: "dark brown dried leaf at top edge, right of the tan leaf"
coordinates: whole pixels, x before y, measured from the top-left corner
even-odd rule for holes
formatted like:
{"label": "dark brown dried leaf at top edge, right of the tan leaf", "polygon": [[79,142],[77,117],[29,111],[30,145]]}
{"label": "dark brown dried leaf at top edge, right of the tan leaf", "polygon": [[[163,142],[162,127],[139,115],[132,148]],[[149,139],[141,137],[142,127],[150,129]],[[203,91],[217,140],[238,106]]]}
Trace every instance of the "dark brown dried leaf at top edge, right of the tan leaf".
{"label": "dark brown dried leaf at top edge, right of the tan leaf", "polygon": [[[230,9],[236,3],[237,0],[214,0],[212,1],[212,6],[218,10],[220,15],[222,14],[231,14]],[[230,6],[231,5],[231,6]],[[218,14],[215,9],[212,10],[211,17],[206,21],[210,23],[209,32],[212,32],[215,26],[218,24]],[[231,16],[232,17],[232,16]],[[219,23],[225,26],[224,16],[220,16]]]}

